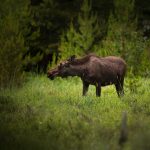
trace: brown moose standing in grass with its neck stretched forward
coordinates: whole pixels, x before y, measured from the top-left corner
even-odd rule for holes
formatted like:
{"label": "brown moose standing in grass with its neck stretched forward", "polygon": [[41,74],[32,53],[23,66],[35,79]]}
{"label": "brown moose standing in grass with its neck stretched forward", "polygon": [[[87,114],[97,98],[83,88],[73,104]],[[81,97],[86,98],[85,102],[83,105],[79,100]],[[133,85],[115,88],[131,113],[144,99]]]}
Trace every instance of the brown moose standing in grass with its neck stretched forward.
{"label": "brown moose standing in grass with its neck stretched forward", "polygon": [[101,87],[114,84],[118,96],[124,95],[124,77],[126,62],[116,56],[99,57],[94,54],[77,59],[75,55],[47,72],[53,80],[59,76],[78,76],[83,83],[83,96],[87,94],[89,85],[95,85],[96,96],[101,96]]}

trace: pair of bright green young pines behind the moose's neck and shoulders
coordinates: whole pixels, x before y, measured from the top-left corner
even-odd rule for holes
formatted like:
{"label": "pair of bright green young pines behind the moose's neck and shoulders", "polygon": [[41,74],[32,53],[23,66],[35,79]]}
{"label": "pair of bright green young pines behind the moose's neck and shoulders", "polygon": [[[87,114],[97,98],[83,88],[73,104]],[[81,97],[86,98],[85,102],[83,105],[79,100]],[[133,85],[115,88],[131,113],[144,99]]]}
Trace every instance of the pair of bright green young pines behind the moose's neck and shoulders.
{"label": "pair of bright green young pines behind the moose's neck and shoulders", "polygon": [[69,30],[61,36],[60,50],[64,57],[92,52],[100,37],[98,17],[92,12],[91,1],[84,0],[78,15],[77,27],[71,22]]}

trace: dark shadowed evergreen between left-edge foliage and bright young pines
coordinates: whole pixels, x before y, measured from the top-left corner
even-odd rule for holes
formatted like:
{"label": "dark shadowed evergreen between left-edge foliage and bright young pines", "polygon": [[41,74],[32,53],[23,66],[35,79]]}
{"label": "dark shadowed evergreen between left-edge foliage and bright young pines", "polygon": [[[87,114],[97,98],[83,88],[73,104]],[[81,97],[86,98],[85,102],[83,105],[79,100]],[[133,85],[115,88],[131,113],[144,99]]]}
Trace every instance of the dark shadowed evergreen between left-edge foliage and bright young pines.
{"label": "dark shadowed evergreen between left-edge foliage and bright young pines", "polygon": [[29,47],[25,64],[26,70],[46,71],[52,55],[58,55],[58,37],[67,17],[61,12],[56,0],[43,0],[31,5],[30,31],[25,34],[26,45]]}

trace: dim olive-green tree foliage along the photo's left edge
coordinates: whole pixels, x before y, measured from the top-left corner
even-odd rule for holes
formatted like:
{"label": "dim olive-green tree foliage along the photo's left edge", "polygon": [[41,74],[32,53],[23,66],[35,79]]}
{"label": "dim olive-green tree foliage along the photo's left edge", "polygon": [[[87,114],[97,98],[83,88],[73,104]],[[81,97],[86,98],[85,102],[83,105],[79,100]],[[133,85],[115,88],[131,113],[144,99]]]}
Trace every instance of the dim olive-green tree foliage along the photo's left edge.
{"label": "dim olive-green tree foliage along the photo's left edge", "polygon": [[[26,5],[24,5],[26,4]],[[14,5],[10,0],[3,2],[0,13],[0,85],[20,82],[22,78],[22,56],[26,51],[20,22],[27,1]]]}

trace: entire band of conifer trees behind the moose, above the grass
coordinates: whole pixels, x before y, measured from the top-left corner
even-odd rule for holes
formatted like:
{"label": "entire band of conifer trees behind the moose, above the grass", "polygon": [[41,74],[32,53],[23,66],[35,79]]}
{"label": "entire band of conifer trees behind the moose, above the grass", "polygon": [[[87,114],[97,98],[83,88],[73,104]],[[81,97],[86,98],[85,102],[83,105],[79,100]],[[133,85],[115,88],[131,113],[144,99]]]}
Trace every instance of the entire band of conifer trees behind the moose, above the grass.
{"label": "entire band of conifer trees behind the moose, above the grass", "polygon": [[108,29],[107,17],[102,18],[105,24],[100,22],[99,12],[104,9],[103,4],[112,3],[110,1],[0,2],[0,82],[3,86],[21,79],[22,66],[27,71],[46,71],[48,63],[54,66],[58,56],[66,59],[90,52],[100,56],[119,55],[127,61],[129,69],[133,68],[134,75],[150,76],[149,40],[137,30],[139,16],[134,0],[114,1]]}

